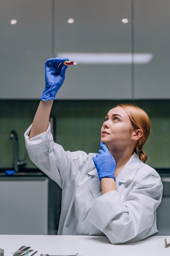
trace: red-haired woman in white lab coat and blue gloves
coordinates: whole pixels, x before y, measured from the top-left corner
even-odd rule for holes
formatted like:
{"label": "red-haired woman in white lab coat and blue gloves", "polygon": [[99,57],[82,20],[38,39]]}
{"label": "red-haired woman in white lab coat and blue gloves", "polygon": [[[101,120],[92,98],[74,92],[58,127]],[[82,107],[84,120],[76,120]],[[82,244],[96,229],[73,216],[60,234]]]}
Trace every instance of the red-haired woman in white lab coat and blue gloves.
{"label": "red-haired woman in white lab coat and blue gloves", "polygon": [[65,79],[65,60],[46,61],[46,86],[24,134],[31,161],[62,188],[58,235],[106,235],[113,244],[156,235],[163,185],[142,151],[150,134],[148,115],[137,106],[120,104],[104,119],[98,154],[65,151],[53,141],[49,123]]}

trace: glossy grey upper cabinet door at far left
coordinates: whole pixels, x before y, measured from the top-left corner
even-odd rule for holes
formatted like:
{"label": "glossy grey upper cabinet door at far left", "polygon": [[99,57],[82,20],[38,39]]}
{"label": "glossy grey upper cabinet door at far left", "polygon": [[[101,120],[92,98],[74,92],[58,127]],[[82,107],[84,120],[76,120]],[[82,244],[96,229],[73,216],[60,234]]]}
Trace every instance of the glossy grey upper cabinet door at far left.
{"label": "glossy grey upper cabinet door at far left", "polygon": [[0,99],[39,99],[52,54],[52,0],[1,0],[0,10]]}

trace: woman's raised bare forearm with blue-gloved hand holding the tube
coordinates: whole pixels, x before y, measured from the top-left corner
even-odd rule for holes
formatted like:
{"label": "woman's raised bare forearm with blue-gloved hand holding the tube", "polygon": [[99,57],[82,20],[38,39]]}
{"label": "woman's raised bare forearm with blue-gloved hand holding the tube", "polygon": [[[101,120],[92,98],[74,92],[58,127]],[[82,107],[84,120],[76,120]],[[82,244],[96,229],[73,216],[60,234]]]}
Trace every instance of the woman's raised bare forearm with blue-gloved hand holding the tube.
{"label": "woman's raised bare forearm with blue-gloved hand holding the tube", "polygon": [[41,96],[41,101],[33,119],[33,124],[29,133],[29,139],[45,132],[49,126],[49,117],[53,100],[57,91],[62,86],[65,79],[65,72],[68,66],[63,65],[67,58],[50,58],[45,63],[46,85]]}

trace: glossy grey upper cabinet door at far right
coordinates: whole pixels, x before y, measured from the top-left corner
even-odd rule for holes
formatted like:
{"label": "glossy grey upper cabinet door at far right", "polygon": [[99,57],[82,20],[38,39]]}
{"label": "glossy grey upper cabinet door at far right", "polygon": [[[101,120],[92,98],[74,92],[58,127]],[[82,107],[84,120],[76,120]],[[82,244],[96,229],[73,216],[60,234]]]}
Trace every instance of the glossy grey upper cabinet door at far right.
{"label": "glossy grey upper cabinet door at far right", "polygon": [[135,64],[134,99],[170,99],[170,1],[134,1],[135,54],[151,54]]}

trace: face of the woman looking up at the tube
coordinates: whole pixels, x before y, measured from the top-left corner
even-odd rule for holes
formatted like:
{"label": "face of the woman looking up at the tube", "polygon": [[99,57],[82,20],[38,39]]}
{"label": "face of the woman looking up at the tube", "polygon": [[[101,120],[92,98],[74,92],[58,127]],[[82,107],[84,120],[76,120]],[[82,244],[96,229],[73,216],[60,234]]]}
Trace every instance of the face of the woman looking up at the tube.
{"label": "face of the woman looking up at the tube", "polygon": [[101,128],[101,141],[110,147],[124,148],[126,145],[134,144],[131,140],[132,132],[134,129],[126,111],[122,107],[112,108]]}

